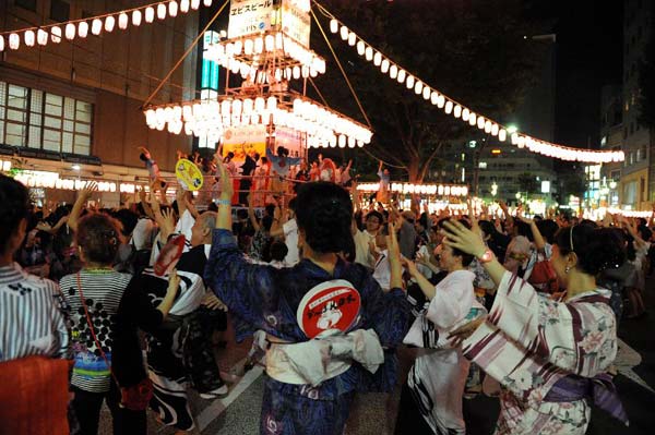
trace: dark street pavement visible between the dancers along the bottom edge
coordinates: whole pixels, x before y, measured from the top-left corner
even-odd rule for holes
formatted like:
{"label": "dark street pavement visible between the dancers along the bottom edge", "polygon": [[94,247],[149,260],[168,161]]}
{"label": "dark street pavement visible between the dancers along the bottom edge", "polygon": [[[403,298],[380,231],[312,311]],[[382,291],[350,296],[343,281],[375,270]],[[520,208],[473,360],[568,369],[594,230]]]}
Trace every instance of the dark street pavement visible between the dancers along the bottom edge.
{"label": "dark street pavement visible between the dancers along the bottom edge", "polygon": [[[626,427],[604,411],[594,409],[587,430],[591,435],[638,435],[655,433],[655,280],[648,282],[645,301],[648,315],[639,319],[623,319],[619,325],[619,354],[615,384],[630,418]],[[228,336],[230,336],[228,331]],[[263,370],[254,367],[239,373],[250,342],[228,340],[226,349],[215,349],[224,377],[230,386],[227,397],[203,400],[190,391],[190,406],[195,415],[192,434],[259,434],[259,416],[263,391]],[[401,372],[406,373],[414,352],[402,349],[398,353]],[[242,376],[236,376],[241,374]],[[367,394],[356,398],[347,423],[347,435],[386,435],[394,433],[400,387],[394,394]],[[493,433],[498,416],[497,399],[479,395],[464,400],[464,414],[469,435]],[[107,410],[103,412],[100,434],[111,433]],[[148,434],[172,435],[176,431],[159,424],[148,413]]]}

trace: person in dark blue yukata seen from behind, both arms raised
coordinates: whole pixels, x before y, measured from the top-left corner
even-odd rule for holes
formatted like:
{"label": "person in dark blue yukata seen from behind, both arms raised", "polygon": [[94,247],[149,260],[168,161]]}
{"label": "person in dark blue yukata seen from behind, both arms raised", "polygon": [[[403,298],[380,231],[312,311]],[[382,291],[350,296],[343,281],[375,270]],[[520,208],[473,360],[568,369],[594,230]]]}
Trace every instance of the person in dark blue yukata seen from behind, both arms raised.
{"label": "person in dark blue yukata seen from behind, both arms raised", "polygon": [[391,289],[384,292],[370,270],[341,257],[352,245],[353,204],[338,185],[299,189],[302,261],[282,269],[243,257],[230,231],[230,196],[227,181],[205,280],[229,307],[237,340],[258,329],[266,334],[260,433],[342,434],[356,391],[389,391],[395,384],[393,352],[408,328],[409,305],[393,226]]}

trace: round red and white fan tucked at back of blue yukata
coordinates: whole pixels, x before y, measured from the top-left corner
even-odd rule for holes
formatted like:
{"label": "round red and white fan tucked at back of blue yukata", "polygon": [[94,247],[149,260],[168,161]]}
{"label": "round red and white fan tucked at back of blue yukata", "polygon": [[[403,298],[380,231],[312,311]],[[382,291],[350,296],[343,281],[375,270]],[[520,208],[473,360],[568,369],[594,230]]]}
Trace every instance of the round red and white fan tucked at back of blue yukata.
{"label": "round red and white fan tucked at back of blue yukata", "polygon": [[359,318],[361,297],[345,279],[334,279],[309,290],[296,312],[300,329],[314,338],[329,329],[347,333]]}

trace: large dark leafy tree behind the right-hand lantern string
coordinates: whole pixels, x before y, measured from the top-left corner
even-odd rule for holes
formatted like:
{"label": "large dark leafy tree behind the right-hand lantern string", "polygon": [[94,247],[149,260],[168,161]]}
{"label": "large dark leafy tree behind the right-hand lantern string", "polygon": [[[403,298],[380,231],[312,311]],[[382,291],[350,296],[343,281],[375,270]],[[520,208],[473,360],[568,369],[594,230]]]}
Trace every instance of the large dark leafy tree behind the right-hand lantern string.
{"label": "large dark leafy tree behind the right-hand lantern string", "polygon": [[[409,73],[476,113],[502,120],[536,80],[543,46],[524,36],[543,28],[522,17],[519,0],[498,0],[493,7],[476,0],[323,4]],[[329,33],[329,17],[317,15]],[[426,178],[444,143],[471,134],[474,128],[382,74],[338,35],[329,38],[374,130],[368,150],[403,169],[410,181]],[[315,24],[312,47],[327,60],[327,73],[314,80],[322,95],[332,107],[357,118],[359,110]],[[358,120],[364,122],[361,116]]]}

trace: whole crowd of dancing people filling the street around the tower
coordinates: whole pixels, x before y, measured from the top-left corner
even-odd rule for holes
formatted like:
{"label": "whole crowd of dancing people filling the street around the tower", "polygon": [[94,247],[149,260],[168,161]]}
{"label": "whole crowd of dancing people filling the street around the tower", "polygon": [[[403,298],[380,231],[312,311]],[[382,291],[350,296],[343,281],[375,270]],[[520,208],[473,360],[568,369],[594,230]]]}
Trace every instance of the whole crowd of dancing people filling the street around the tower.
{"label": "whole crowd of dancing people filling the street around the tower", "polygon": [[[0,408],[32,427],[14,433],[96,434],[103,402],[115,434],[145,434],[147,408],[192,431],[189,388],[228,391],[213,352],[228,321],[254,337],[247,366],[265,366],[262,434],[341,434],[356,394],[398,384],[398,434],[465,434],[463,398],[480,391],[500,401],[497,434],[583,434],[592,402],[627,423],[617,325],[644,313],[653,221],[401,209],[382,164],[372,201],[350,162],[250,156],[242,174],[302,181],[283,201],[233,157],[211,169],[206,210],[182,189],[157,195],[169,183],[145,148],[158,188],[129,207],[90,206],[90,182],[46,214],[0,176],[0,372],[29,397]],[[402,346],[420,352],[398,378]],[[33,362],[48,370],[27,388]],[[36,411],[61,397],[68,412]]]}

